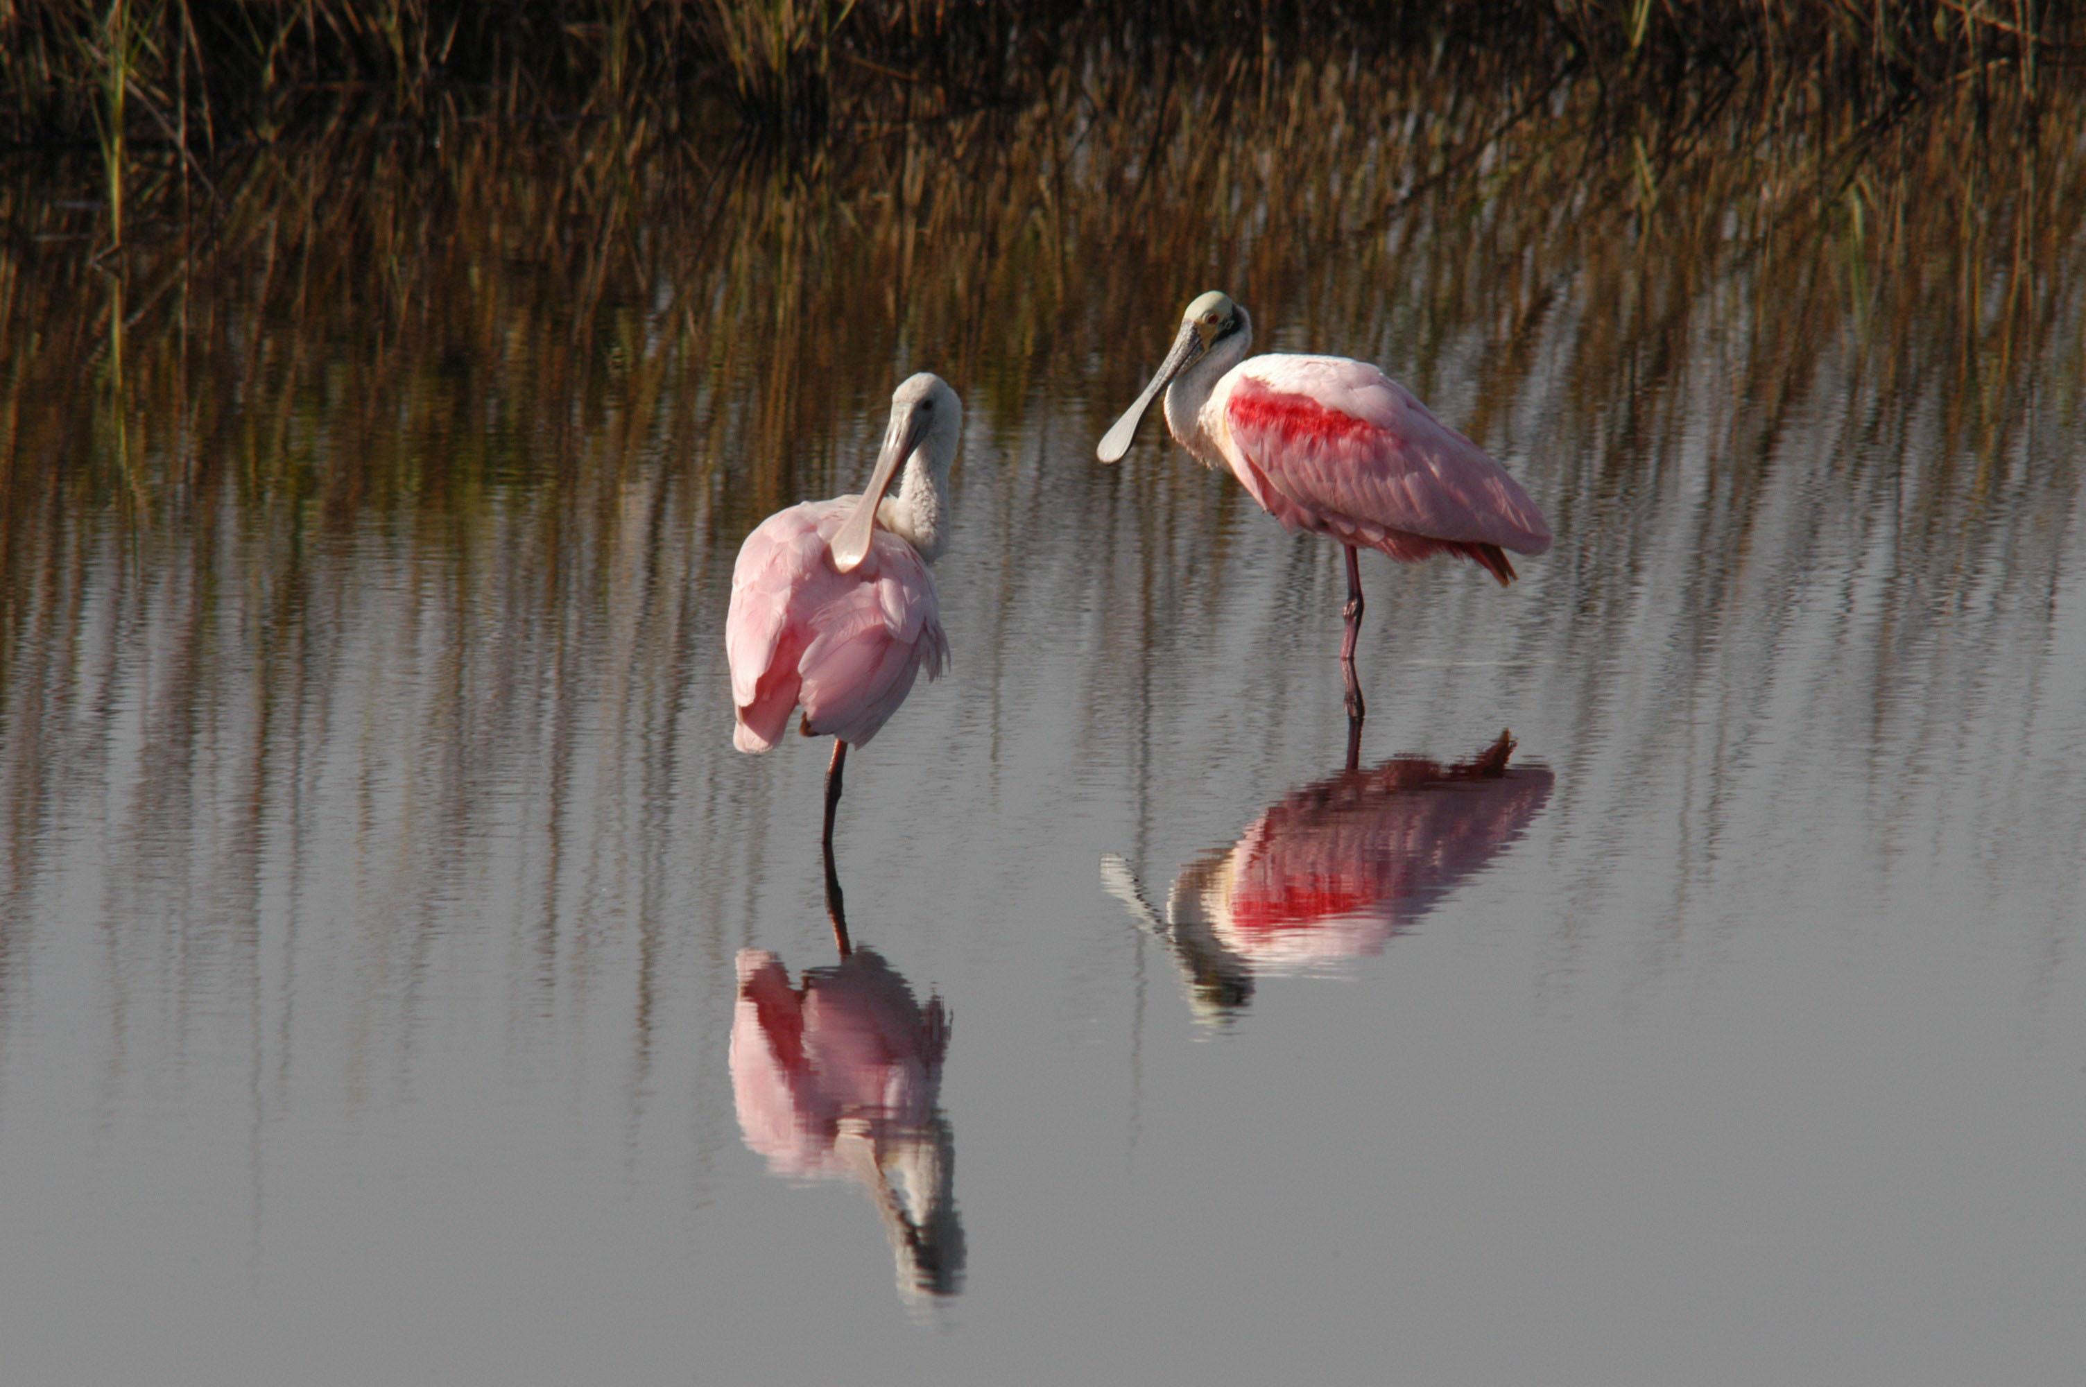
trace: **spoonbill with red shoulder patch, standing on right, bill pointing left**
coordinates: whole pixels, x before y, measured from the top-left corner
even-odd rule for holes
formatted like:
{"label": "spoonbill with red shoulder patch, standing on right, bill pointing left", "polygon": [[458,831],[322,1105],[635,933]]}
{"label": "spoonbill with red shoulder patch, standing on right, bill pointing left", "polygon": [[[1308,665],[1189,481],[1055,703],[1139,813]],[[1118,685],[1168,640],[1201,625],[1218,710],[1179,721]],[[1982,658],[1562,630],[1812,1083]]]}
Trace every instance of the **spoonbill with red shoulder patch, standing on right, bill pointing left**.
{"label": "spoonbill with red shoulder patch, standing on right, bill pointing left", "polygon": [[1402,563],[1460,555],[1502,584],[1506,551],[1539,555],[1550,526],[1529,494],[1475,442],[1441,423],[1396,380],[1348,357],[1245,357],[1254,319],[1212,290],[1137,403],[1101,436],[1118,461],[1160,390],[1166,428],[1206,467],[1224,463],[1289,530],[1329,534],[1348,551],[1348,634],[1339,647],[1348,715],[1366,711],[1354,676],[1362,630],[1360,549]]}

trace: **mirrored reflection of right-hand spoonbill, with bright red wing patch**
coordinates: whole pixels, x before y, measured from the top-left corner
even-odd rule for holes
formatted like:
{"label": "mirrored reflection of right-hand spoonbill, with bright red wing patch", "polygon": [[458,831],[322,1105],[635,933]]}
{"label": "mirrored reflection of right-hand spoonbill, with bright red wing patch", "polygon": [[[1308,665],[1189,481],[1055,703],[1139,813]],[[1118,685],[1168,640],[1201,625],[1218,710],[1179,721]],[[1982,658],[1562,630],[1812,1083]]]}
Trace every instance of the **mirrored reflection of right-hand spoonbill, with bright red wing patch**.
{"label": "mirrored reflection of right-hand spoonbill, with bright red wing patch", "polygon": [[1466,876],[1512,843],[1550,799],[1546,768],[1508,770],[1514,738],[1444,765],[1391,757],[1304,784],[1220,849],[1181,868],[1166,918],[1122,857],[1101,884],[1181,966],[1204,1022],[1237,1018],[1264,972],[1302,972],[1381,953]]}

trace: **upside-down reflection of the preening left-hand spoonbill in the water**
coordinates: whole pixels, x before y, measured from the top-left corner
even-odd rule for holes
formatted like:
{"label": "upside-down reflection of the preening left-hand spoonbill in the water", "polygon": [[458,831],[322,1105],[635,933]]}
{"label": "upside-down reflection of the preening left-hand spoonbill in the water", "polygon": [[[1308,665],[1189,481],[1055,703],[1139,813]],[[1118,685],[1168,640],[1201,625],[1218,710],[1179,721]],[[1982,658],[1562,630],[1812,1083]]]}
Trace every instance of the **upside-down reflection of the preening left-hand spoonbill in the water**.
{"label": "upside-down reflection of the preening left-hand spoonbill in the water", "polygon": [[828,859],[826,903],[841,962],[789,968],[766,949],[738,951],[732,1097],[747,1145],[791,1178],[862,1183],[884,1220],[907,1299],[953,1295],[964,1224],[951,1178],[955,1143],[939,1105],[949,1014],[922,1007],[882,955],[847,936]]}

